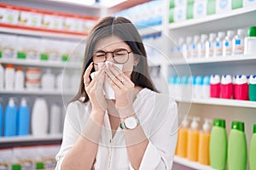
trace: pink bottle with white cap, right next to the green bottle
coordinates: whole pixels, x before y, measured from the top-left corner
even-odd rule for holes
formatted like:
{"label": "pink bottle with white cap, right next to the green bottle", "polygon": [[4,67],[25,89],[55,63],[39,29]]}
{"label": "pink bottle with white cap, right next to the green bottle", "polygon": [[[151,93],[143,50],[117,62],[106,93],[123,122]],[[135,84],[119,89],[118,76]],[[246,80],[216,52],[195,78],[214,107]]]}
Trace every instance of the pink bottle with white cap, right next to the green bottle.
{"label": "pink bottle with white cap, right next to the green bottle", "polygon": [[248,100],[248,82],[245,75],[236,76],[235,99]]}

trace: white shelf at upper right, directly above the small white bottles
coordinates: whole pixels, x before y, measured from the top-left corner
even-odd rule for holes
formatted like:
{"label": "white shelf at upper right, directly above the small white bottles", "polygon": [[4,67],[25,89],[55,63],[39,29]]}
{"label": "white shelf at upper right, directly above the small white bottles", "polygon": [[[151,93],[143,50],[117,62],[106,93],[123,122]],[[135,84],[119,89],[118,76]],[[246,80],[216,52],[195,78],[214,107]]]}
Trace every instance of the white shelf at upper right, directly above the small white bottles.
{"label": "white shelf at upper right, directly above the small white bottles", "polygon": [[[254,4],[244,8],[233,9],[222,14],[212,14],[212,15],[207,15],[205,17],[201,17],[201,18],[195,18],[191,20],[180,21],[177,23],[171,23],[169,24],[169,29],[170,30],[177,30],[177,29],[191,30],[191,29],[194,29],[192,26],[197,26],[195,29],[198,29],[199,25],[202,25],[202,24],[209,25],[209,23],[211,22],[212,24],[210,27],[214,27],[214,29],[215,27],[218,27],[217,30],[222,30],[220,28],[221,26],[219,25],[216,26],[214,23],[215,21],[218,22],[220,20],[223,21],[225,25],[229,26],[230,28],[234,26],[252,26],[253,24],[255,24],[255,20],[253,21],[251,19],[255,15],[256,15],[256,5]],[[241,18],[238,18],[238,17],[241,17]],[[239,20],[239,23],[237,22],[237,20]],[[232,22],[232,21],[235,21],[235,22]],[[227,25],[227,23],[229,24]],[[206,29],[205,27],[203,28]]]}

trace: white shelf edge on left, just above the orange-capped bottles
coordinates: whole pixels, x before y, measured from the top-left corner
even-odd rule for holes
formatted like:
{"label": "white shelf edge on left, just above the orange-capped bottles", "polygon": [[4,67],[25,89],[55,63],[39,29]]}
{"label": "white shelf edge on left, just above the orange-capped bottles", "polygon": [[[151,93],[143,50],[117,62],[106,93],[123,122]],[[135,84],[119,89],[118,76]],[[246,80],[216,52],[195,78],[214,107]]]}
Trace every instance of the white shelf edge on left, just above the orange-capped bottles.
{"label": "white shelf edge on left, just above the orange-capped bottles", "polygon": [[39,66],[39,67],[51,67],[51,68],[68,68],[68,69],[78,69],[81,67],[81,63],[75,62],[61,62],[61,61],[42,61],[42,60],[32,60],[32,59],[0,59],[2,64],[12,64],[12,65],[29,65],[29,66]]}

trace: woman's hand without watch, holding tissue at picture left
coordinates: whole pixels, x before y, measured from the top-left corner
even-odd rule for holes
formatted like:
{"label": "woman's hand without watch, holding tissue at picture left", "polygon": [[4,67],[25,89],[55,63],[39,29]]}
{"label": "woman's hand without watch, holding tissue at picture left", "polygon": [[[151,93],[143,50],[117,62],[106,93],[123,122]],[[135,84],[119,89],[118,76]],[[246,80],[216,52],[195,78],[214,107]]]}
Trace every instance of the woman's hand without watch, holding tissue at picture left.
{"label": "woman's hand without watch, holding tissue at picture left", "polygon": [[87,67],[84,72],[84,88],[90,99],[92,111],[103,111],[107,109],[107,100],[103,95],[103,82],[105,80],[105,65],[100,71],[97,71],[95,77],[90,81],[90,71],[92,70],[93,63]]}

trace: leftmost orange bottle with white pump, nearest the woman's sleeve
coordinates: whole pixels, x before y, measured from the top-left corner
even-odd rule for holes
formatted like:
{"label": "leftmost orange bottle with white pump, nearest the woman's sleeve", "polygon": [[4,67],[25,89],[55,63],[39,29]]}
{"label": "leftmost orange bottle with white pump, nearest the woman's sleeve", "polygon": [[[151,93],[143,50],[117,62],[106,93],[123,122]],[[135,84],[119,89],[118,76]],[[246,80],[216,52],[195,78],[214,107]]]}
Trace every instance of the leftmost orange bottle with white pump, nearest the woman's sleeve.
{"label": "leftmost orange bottle with white pump, nearest the woman's sleeve", "polygon": [[177,156],[187,157],[189,120],[185,119],[183,126],[177,132]]}

